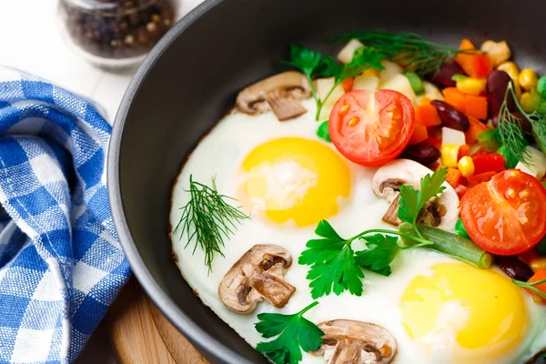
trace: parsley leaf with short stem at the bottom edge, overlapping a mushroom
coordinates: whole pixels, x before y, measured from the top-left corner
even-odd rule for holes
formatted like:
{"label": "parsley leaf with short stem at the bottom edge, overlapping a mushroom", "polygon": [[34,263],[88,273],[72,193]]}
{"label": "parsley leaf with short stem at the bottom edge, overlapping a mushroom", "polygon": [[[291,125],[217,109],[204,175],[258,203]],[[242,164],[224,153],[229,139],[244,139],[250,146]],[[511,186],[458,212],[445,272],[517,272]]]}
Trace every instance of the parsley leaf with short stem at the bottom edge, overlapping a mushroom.
{"label": "parsley leaf with short stem at the bottom edge, overlapping a mushroom", "polygon": [[256,349],[277,364],[297,364],[302,359],[301,349],[304,351],[319,349],[324,332],[303,318],[303,314],[318,304],[319,302],[313,302],[293,315],[259,314],[259,321],[255,324],[256,330],[266,339],[274,336],[277,336],[277,339],[259,342]]}

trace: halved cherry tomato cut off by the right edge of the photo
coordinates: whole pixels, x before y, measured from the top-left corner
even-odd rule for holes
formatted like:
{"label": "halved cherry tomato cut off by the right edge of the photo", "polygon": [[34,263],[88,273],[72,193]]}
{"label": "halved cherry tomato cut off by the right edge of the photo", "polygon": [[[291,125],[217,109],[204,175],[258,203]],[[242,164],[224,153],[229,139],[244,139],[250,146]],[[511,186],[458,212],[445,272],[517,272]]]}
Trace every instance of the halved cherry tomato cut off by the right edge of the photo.
{"label": "halved cherry tomato cut off by the right edge of the photo", "polygon": [[546,234],[546,188],[518,169],[502,171],[469,189],[460,200],[460,218],[481,248],[519,254]]}

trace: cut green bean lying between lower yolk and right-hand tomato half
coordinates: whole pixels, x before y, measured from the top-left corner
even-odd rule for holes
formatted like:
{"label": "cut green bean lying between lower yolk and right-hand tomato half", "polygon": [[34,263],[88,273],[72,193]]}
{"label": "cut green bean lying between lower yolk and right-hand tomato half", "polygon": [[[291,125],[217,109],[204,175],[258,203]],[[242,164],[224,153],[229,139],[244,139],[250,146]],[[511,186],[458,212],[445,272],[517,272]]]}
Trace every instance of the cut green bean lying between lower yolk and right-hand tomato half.
{"label": "cut green bean lying between lower yolk and right-hand tomato half", "polygon": [[[434,243],[425,248],[434,249],[481,269],[490,268],[491,263],[493,262],[493,257],[487,251],[478,247],[468,238],[463,238],[457,234],[440,230],[436,227],[428,227],[426,225],[418,225],[417,228],[423,238]],[[402,223],[399,226],[399,231],[417,237],[417,233],[410,223]],[[402,238],[402,241],[407,245],[414,244],[409,238]]]}

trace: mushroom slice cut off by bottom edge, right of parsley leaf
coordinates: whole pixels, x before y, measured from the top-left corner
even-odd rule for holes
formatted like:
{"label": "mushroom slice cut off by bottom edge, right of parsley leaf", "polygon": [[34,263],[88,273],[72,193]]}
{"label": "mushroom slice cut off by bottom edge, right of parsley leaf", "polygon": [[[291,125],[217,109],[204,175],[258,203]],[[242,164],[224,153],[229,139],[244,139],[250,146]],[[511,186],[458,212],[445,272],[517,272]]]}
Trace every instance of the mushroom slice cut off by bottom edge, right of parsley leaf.
{"label": "mushroom slice cut off by bottom edge, right of parsley leaf", "polygon": [[319,323],[324,342],[311,352],[328,364],[388,364],[396,356],[397,343],[378,325],[350,319]]}

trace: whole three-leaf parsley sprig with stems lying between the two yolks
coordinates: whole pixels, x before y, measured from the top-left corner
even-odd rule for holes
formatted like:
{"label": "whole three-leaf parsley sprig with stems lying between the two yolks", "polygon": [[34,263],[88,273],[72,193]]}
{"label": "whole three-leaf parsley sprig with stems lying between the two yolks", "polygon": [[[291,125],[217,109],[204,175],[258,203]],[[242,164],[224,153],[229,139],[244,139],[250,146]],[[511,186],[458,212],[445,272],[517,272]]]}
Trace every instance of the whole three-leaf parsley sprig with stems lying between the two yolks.
{"label": "whole three-leaf parsley sprig with stems lying between the two yolks", "polygon": [[[399,215],[402,221],[416,224],[420,209],[431,197],[443,191],[446,174],[447,168],[442,168],[432,176],[422,178],[420,191],[408,187],[402,195],[400,190]],[[390,264],[401,250],[434,244],[422,238],[417,227],[415,229],[417,236],[396,230],[369,229],[352,238],[341,238],[327,220],[320,221],[315,230],[320,238],[309,240],[307,249],[298,258],[299,264],[310,266],[307,278],[310,280],[311,297],[316,299],[328,296],[331,292],[340,295],[346,290],[352,295],[361,296],[364,278],[362,268],[389,276]],[[410,239],[417,244],[400,247],[398,237]],[[358,239],[366,241],[367,248],[355,252],[352,243]]]}

